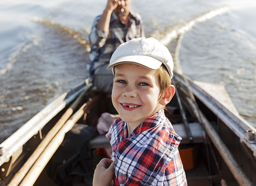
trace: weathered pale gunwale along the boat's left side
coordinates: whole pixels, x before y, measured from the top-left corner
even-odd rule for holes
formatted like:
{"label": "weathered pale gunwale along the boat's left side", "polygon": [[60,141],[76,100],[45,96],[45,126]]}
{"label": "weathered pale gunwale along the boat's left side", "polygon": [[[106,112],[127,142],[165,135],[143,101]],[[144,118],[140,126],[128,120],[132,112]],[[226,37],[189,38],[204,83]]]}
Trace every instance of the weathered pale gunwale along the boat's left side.
{"label": "weathered pale gunwale along the boat's left side", "polygon": [[68,92],[58,96],[41,111],[22,125],[16,132],[0,144],[0,166],[8,162],[13,153],[18,151],[31,137],[71,103],[82,91],[89,89],[92,84],[85,80]]}

